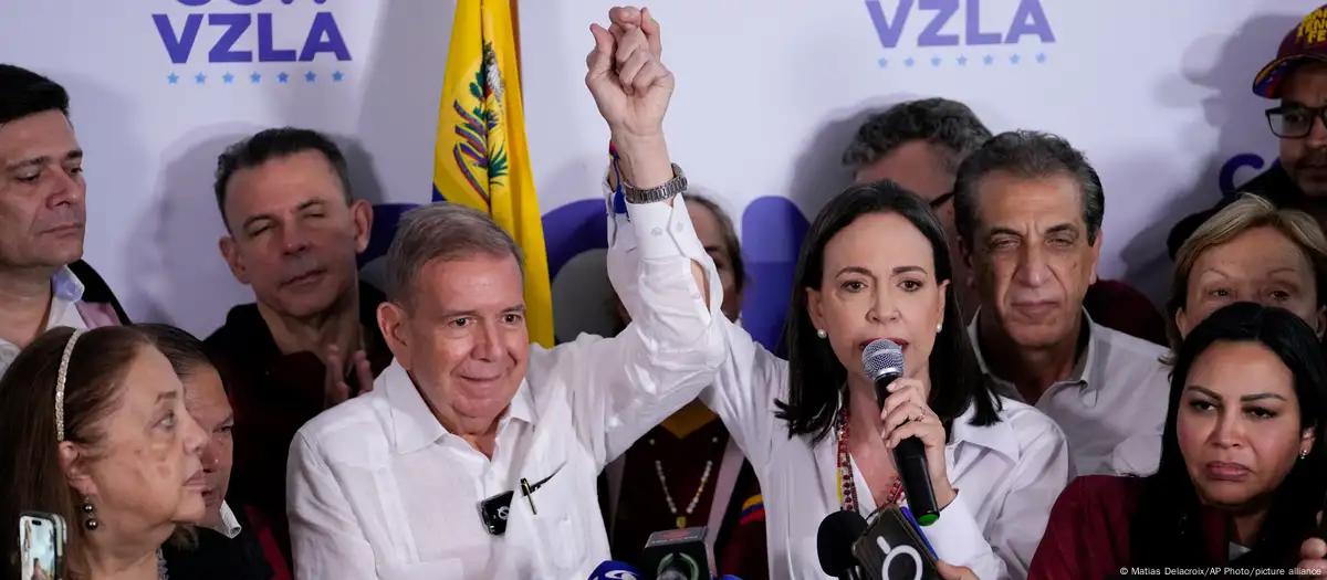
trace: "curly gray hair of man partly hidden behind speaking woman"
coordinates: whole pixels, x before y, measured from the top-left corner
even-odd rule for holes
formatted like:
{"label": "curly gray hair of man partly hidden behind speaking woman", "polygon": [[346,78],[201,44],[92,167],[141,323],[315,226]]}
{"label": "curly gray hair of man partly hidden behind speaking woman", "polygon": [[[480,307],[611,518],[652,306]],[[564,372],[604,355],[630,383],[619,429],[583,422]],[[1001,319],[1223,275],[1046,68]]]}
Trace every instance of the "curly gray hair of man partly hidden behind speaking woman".
{"label": "curly gray hair of man partly hidden behind speaking woman", "polygon": [[957,172],[958,164],[990,138],[991,131],[967,105],[938,97],[908,101],[868,118],[844,150],[843,164],[860,169],[904,143],[922,140],[943,150],[945,168]]}

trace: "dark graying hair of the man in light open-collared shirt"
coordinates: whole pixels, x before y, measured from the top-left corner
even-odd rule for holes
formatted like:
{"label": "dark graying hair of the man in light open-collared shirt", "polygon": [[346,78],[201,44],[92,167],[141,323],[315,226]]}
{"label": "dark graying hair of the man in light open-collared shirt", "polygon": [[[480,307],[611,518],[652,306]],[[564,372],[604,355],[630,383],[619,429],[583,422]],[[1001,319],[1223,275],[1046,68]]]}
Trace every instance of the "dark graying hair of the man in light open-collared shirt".
{"label": "dark graying hair of the man in light open-collared shirt", "polygon": [[1105,195],[1101,177],[1088,163],[1087,155],[1060,136],[1040,131],[1009,131],[993,136],[958,168],[954,180],[954,225],[967,248],[977,232],[978,200],[982,179],[1005,172],[1024,179],[1067,176],[1078,184],[1083,201],[1087,241],[1096,244],[1105,218]]}

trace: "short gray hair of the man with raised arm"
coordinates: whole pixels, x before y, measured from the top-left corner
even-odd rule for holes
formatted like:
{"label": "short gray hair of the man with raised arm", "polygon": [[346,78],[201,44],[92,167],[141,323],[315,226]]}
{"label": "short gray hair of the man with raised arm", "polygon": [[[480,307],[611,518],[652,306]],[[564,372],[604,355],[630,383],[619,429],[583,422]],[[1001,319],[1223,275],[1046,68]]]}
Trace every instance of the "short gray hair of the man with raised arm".
{"label": "short gray hair of the man with raised arm", "polygon": [[387,299],[409,303],[409,293],[419,270],[434,260],[462,260],[471,256],[516,258],[525,277],[520,246],[491,216],[475,208],[438,201],[421,205],[401,216],[397,236],[387,249]]}

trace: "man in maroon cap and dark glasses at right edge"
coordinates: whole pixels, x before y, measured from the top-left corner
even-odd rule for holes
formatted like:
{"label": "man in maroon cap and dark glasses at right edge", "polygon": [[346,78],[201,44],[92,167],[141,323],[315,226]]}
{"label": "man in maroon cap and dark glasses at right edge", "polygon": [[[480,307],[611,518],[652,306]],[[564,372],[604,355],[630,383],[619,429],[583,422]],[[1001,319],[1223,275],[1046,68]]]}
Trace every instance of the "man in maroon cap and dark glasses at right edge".
{"label": "man in maroon cap and dark glasses at right edge", "polygon": [[[1303,209],[1327,226],[1327,5],[1286,33],[1277,58],[1254,77],[1253,91],[1281,99],[1265,111],[1271,132],[1281,139],[1281,163],[1238,191]],[[1238,197],[1225,193],[1217,207],[1176,224],[1166,244],[1172,258],[1198,225]]]}

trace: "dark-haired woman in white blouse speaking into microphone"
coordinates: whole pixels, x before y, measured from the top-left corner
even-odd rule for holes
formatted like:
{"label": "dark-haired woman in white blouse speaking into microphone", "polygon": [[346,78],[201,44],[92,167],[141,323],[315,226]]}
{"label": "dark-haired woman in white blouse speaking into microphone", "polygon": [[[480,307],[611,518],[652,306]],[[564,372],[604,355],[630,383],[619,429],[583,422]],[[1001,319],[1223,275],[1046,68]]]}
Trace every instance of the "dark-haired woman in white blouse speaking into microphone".
{"label": "dark-haired woman in white blouse speaking into microphone", "polygon": [[[940,560],[1026,577],[1068,483],[1068,448],[1044,414],[986,387],[926,203],[892,181],[852,187],[816,217],[796,271],[788,360],[726,324],[731,358],[703,395],[759,474],[771,576],[825,577],[816,531],[829,512],[906,505],[890,449],[916,436],[941,507],[924,528]],[[861,369],[880,338],[905,358],[884,413]]]}

